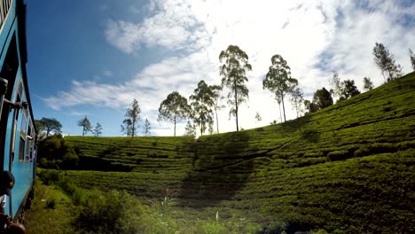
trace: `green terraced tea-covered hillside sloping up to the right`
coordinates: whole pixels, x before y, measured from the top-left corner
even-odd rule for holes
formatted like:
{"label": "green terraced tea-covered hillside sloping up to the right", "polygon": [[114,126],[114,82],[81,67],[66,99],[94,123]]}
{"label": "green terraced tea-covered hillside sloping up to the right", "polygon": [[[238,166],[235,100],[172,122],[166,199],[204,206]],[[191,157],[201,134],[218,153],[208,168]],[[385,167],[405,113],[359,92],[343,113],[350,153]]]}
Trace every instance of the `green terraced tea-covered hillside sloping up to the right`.
{"label": "green terraced tea-covered hillside sloping up to the right", "polygon": [[66,137],[85,188],[160,198],[179,217],[237,214],[271,230],[413,232],[415,74],[283,124],[188,137]]}

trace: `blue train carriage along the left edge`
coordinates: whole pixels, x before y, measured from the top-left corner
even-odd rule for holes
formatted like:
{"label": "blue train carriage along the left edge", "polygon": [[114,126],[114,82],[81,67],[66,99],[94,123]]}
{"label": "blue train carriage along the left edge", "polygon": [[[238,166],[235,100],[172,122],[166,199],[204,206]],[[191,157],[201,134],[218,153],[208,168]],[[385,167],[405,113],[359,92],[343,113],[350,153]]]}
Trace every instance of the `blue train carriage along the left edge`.
{"label": "blue train carriage along the left edge", "polygon": [[23,0],[0,0],[0,27],[0,166],[15,178],[5,212],[17,220],[33,196],[36,152],[35,119],[27,86]]}

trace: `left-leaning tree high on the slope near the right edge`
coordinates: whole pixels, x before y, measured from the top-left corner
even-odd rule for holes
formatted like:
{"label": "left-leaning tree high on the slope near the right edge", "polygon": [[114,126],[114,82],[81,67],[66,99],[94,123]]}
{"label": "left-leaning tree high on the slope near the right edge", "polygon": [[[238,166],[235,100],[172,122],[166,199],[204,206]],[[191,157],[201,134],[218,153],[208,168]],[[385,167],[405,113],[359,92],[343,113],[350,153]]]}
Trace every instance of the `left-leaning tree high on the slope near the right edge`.
{"label": "left-leaning tree high on the slope near the right edge", "polygon": [[382,43],[375,43],[373,47],[374,61],[379,66],[380,71],[385,77],[388,75],[386,82],[390,82],[402,76],[402,66],[395,63],[395,58]]}

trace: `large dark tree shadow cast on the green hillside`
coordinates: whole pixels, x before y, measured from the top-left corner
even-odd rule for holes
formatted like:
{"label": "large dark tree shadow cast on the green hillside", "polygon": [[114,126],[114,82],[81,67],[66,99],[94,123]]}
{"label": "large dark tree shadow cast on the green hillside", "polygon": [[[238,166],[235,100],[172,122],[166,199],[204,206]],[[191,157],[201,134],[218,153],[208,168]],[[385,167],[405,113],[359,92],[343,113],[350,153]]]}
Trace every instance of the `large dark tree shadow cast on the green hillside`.
{"label": "large dark tree shadow cast on the green hillside", "polygon": [[253,170],[245,131],[207,136],[191,147],[192,170],[185,176],[177,198],[182,207],[214,207],[234,198]]}

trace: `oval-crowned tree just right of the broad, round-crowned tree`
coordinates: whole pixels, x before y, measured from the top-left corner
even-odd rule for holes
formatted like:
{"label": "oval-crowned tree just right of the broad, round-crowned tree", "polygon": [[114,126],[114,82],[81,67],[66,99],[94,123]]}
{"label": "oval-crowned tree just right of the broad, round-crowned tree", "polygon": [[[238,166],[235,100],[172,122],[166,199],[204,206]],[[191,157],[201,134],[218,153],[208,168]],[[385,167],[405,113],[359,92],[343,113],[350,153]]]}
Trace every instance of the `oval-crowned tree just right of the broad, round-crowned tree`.
{"label": "oval-crowned tree just right of the broad, round-crowned tree", "polygon": [[214,91],[202,80],[198,83],[198,88],[194,90],[190,100],[192,101],[192,119],[200,128],[200,136],[203,136],[207,127],[213,123]]}

